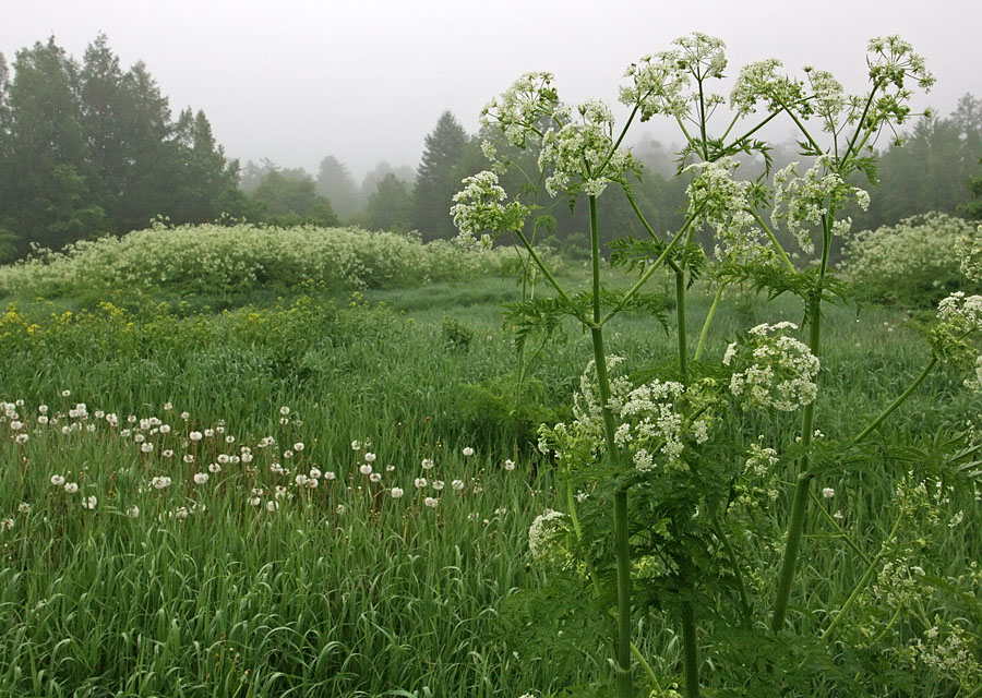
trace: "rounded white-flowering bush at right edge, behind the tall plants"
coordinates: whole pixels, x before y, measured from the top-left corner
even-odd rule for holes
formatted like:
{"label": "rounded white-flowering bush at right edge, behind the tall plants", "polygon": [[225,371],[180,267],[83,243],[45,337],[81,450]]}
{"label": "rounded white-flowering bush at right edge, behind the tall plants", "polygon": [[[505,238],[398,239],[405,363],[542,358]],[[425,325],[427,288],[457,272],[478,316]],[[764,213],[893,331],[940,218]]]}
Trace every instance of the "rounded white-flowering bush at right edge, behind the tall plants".
{"label": "rounded white-flowering bush at right edge, behind the tall plants", "polygon": [[975,287],[982,281],[980,240],[975,225],[934,212],[857,233],[845,245],[843,265],[865,299],[933,305],[966,287],[966,278]]}

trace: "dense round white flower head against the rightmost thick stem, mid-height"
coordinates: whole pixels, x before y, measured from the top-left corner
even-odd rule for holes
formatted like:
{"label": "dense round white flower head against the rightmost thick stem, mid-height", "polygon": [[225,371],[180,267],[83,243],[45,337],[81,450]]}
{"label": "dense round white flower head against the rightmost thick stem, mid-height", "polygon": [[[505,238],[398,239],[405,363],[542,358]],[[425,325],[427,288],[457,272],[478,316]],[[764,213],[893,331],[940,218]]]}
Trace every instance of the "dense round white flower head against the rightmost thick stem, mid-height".
{"label": "dense round white flower head against the rightmost thick stem, mid-height", "polygon": [[738,371],[730,378],[730,392],[746,396],[747,406],[791,412],[815,399],[818,386],[818,358],[807,346],[783,334],[798,325],[781,322],[757,325],[746,336],[746,346],[732,344],[723,363],[736,361]]}

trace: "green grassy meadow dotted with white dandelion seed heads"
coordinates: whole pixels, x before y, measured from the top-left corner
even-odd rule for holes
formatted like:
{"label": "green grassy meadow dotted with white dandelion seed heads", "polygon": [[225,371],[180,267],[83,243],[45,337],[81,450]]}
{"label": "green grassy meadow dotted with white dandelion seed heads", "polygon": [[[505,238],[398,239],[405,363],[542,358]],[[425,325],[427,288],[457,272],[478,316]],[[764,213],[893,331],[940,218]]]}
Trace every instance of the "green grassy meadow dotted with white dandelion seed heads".
{"label": "green grassy meadow dotted with white dandelion seed heads", "polygon": [[[571,325],[544,341],[535,393],[516,397],[501,310],[520,296],[513,279],[277,292],[2,299],[0,695],[604,695],[589,693],[609,676],[604,626],[585,591],[532,564],[527,533],[562,502],[534,447],[536,418],[568,417],[588,339]],[[693,346],[709,300],[688,309]],[[785,299],[724,299],[707,360],[738,332],[800,312]],[[923,368],[930,350],[907,320],[829,311],[825,437],[852,436]],[[638,370],[673,354],[650,317],[612,329],[609,352]],[[932,374],[874,446],[900,432],[926,446],[963,426],[979,406],[962,378]],[[759,434],[793,441],[797,428],[794,416],[753,412],[727,425],[743,445],[734,453]],[[799,626],[823,626],[843,605],[897,518],[898,483],[925,465],[884,454],[816,481],[836,494],[812,509]],[[779,538],[792,484],[782,478],[755,526]],[[982,593],[975,492],[956,490],[944,507],[948,518],[909,521],[902,541],[921,540],[937,594],[899,622],[862,599],[827,666],[778,670],[798,671],[805,695],[967,695],[945,666],[878,649],[914,646],[922,619],[982,619],[966,591]],[[777,558],[739,544],[763,615]],[[717,611],[700,609],[707,636]],[[673,612],[635,619],[666,690],[681,681]],[[978,658],[978,638],[966,642]],[[740,651],[707,645],[707,696],[750,695]]]}

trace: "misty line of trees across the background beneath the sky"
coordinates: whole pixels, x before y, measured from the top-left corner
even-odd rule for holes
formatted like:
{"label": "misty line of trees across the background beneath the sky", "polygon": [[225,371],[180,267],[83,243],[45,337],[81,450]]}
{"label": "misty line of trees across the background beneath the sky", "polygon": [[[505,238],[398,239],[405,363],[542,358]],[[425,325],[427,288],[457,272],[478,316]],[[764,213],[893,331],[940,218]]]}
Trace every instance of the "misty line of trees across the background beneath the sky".
{"label": "misty line of trees across the background beneath the sky", "polygon": [[[155,217],[173,224],[223,217],[277,226],[359,225],[419,231],[423,240],[456,231],[448,210],[460,180],[487,168],[481,143],[529,166],[531,154],[489,133],[468,134],[443,112],[426,135],[416,170],[380,163],[356,183],[334,156],[319,171],[282,168],[265,159],[244,167],[225,155],[203,111],[169,101],[143,62],[123,70],[99,35],[81,61],[53,37],[0,55],[0,262],[39,245],[50,249],[106,233],[144,228]],[[902,143],[902,147],[900,143]],[[656,230],[681,225],[687,176],[673,147],[647,139],[634,146],[644,177],[632,185]],[[801,159],[794,144],[769,153],[771,169]],[[982,103],[962,97],[947,118],[924,117],[875,154],[878,185],[867,212],[852,212],[855,228],[876,228],[927,210],[982,218]],[[802,163],[802,168],[807,167]],[[747,160],[743,177],[764,172]],[[514,170],[513,170],[514,171]],[[515,177],[514,174],[512,177]],[[862,184],[861,182],[858,182]],[[530,192],[528,182],[505,182]],[[548,209],[535,231],[558,249],[586,236],[584,202],[536,202]],[[642,234],[626,197],[601,198],[603,240]]]}

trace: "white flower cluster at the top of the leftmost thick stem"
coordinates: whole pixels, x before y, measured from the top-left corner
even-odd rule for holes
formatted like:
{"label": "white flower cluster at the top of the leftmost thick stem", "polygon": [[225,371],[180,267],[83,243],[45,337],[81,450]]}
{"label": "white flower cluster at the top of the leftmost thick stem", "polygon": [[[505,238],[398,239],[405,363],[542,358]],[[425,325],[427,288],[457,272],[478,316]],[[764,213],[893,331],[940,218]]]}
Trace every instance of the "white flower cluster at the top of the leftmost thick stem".
{"label": "white flower cluster at the top of the leftmost thick stem", "polygon": [[561,129],[549,129],[542,137],[539,169],[551,172],[546,191],[551,196],[561,192],[583,192],[599,196],[611,182],[633,166],[631,154],[613,149],[613,112],[599,99],[590,99],[576,108],[578,121]]}

